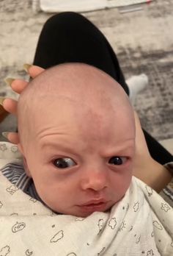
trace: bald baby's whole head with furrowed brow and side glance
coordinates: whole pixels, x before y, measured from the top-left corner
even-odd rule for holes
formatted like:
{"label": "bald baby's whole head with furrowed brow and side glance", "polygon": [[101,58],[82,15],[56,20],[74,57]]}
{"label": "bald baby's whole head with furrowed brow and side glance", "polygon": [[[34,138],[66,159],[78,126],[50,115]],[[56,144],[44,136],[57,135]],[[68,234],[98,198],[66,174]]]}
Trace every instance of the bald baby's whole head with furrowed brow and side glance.
{"label": "bald baby's whole head with furrowed brow and side glance", "polygon": [[44,71],[20,96],[18,132],[26,174],[55,212],[106,211],[128,190],[133,110],[103,71],[77,63]]}

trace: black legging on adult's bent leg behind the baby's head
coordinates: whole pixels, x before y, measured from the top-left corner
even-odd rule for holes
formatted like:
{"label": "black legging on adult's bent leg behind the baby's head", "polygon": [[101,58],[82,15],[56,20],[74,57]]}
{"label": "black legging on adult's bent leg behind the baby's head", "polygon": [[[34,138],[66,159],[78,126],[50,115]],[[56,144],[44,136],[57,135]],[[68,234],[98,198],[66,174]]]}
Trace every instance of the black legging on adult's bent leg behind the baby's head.
{"label": "black legging on adult's bent leg behind the baby's head", "polygon": [[[87,63],[113,77],[125,92],[128,85],[119,67],[117,56],[108,40],[87,18],[78,13],[59,13],[46,21],[37,44],[34,65],[50,68],[60,63]],[[143,130],[144,131],[144,130]],[[144,131],[152,157],[164,164],[172,154]]]}

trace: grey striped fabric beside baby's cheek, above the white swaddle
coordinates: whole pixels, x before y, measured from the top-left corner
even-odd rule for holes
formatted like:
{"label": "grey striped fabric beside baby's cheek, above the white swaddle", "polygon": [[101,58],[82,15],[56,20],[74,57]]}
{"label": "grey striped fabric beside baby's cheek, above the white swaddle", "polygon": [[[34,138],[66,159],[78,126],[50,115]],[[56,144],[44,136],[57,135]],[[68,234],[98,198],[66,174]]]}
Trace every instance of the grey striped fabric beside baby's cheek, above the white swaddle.
{"label": "grey striped fabric beside baby's cheek, above the white swaddle", "polygon": [[1,168],[1,172],[10,180],[10,182],[12,182],[13,185],[20,188],[21,191],[32,196],[34,199],[43,202],[37,194],[33,179],[26,175],[22,165],[19,165],[18,163],[8,163],[6,166]]}

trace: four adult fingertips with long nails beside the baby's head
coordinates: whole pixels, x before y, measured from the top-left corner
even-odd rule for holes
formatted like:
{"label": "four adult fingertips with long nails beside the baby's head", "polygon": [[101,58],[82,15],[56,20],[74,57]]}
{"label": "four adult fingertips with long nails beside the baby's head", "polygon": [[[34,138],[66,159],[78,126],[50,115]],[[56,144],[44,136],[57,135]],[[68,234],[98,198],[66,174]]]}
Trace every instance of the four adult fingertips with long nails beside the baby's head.
{"label": "four adult fingertips with long nails beside the baby's head", "polygon": [[[27,65],[26,71],[28,72],[29,76],[34,78],[37,77],[37,75],[41,74],[44,71],[44,68],[40,68],[37,65]],[[28,85],[29,82],[26,82],[25,80],[22,79],[15,79],[11,83],[11,88],[14,90],[16,93],[21,93],[24,88]],[[3,107],[7,112],[12,113],[14,115],[18,115],[17,110],[18,110],[18,102],[15,101],[14,99],[4,99],[3,102]],[[18,132],[8,132],[7,134],[7,139],[14,144],[18,144],[19,139],[18,139]]]}

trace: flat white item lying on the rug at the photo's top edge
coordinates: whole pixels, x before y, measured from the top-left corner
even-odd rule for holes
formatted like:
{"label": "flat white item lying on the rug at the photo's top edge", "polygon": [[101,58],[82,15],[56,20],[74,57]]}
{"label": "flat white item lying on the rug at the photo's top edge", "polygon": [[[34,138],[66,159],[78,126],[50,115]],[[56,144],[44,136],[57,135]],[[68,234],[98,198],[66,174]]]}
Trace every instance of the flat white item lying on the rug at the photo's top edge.
{"label": "flat white item lying on the rug at the photo's top edge", "polygon": [[[88,12],[112,7],[123,7],[130,4],[149,3],[152,0],[32,0],[33,10],[40,2],[40,9],[44,12]],[[35,11],[35,10],[34,10]]]}

